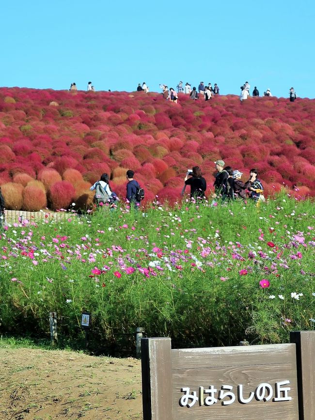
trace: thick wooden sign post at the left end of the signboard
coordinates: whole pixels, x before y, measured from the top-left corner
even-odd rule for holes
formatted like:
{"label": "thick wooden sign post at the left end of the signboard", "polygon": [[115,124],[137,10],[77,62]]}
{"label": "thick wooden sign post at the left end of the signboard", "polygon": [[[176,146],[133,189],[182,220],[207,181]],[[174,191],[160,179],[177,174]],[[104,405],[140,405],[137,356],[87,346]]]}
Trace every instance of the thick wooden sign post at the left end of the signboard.
{"label": "thick wooden sign post at the left end of the signboard", "polygon": [[170,338],[142,338],[143,420],[173,420]]}

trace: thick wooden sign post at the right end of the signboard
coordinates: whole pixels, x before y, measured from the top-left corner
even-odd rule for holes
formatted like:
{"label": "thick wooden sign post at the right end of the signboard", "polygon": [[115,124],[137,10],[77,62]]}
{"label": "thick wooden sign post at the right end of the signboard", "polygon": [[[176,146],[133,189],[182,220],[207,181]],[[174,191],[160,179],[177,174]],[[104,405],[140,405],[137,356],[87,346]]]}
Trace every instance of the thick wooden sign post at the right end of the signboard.
{"label": "thick wooden sign post at the right end of the signboard", "polygon": [[290,342],[296,343],[299,420],[315,419],[315,331],[291,331]]}

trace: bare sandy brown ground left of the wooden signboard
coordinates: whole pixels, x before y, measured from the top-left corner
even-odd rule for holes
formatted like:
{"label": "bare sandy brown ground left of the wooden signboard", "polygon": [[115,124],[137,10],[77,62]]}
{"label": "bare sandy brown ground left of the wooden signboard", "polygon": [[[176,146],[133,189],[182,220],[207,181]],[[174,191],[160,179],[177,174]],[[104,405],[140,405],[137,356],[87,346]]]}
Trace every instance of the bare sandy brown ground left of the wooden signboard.
{"label": "bare sandy brown ground left of the wooden signboard", "polygon": [[0,419],[142,419],[141,365],[65,351],[0,349]]}

